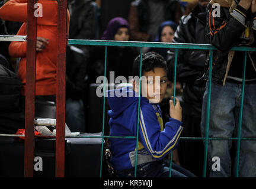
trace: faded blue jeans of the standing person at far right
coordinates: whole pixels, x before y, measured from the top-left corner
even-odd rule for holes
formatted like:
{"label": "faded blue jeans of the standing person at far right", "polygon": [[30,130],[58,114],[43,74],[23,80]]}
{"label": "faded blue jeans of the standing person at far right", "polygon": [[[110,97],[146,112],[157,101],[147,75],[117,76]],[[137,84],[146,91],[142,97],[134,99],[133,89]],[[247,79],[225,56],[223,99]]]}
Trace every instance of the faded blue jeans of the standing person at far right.
{"label": "faded blue jeans of the standing person at far right", "polygon": [[[225,86],[212,84],[210,100],[209,138],[231,138],[238,136],[239,109],[242,84],[229,83]],[[201,134],[205,136],[208,82],[203,96]],[[245,84],[242,112],[242,138],[256,137],[256,84]],[[229,150],[236,140],[209,140],[208,162],[210,177],[231,177],[231,155]],[[220,171],[213,170],[213,157],[220,158]],[[235,159],[236,160],[236,159]],[[235,168],[234,168],[235,171]],[[256,177],[256,141],[242,140],[239,155],[239,177]]]}

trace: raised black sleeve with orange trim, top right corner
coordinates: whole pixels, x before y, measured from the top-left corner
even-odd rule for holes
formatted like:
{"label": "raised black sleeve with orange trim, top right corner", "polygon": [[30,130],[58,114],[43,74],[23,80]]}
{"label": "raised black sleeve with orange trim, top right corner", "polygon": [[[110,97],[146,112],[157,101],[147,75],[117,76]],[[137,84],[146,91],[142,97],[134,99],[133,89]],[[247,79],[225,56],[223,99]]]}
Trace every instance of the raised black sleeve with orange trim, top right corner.
{"label": "raised black sleeve with orange trim, top right corner", "polygon": [[212,5],[207,6],[207,31],[212,45],[220,51],[229,51],[247,28],[247,10],[238,5],[228,15],[223,12],[229,12],[229,8],[220,7],[220,17],[217,17]]}

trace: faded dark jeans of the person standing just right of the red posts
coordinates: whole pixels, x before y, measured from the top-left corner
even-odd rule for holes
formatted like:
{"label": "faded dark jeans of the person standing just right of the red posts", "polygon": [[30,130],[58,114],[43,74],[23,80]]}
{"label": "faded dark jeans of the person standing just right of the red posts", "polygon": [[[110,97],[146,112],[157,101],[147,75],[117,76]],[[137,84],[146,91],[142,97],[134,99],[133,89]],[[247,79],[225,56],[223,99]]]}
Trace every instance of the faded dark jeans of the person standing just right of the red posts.
{"label": "faded dark jeans of the person standing just right of the red posts", "polygon": [[71,132],[85,132],[85,110],[82,100],[66,100],[66,124]]}

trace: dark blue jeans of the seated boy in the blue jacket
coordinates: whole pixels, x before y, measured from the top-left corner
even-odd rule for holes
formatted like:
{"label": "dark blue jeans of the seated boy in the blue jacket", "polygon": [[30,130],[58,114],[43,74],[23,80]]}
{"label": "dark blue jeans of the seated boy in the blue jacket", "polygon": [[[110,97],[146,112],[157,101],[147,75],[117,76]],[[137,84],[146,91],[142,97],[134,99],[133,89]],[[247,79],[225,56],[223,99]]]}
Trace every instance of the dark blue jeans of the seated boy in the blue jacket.
{"label": "dark blue jeans of the seated boy in the blue jacket", "polygon": [[[174,170],[174,167],[179,167],[180,171]],[[185,175],[184,168],[175,165],[172,166],[171,177],[188,177]],[[181,171],[184,170],[184,171]],[[130,170],[117,171],[119,177],[134,177],[135,168]],[[169,177],[169,167],[163,161],[153,161],[146,164],[137,165],[136,177]]]}

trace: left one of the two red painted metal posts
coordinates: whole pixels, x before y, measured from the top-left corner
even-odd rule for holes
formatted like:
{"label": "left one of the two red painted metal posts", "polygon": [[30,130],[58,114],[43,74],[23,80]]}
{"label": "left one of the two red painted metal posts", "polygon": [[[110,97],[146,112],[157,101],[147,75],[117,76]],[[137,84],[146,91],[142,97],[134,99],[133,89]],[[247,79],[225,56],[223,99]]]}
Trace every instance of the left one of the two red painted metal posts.
{"label": "left one of the two red painted metal posts", "polygon": [[37,0],[28,0],[27,4],[27,64],[25,90],[25,151],[24,176],[33,177],[34,172],[34,95],[36,83],[36,31],[37,20],[34,17],[34,4]]}

